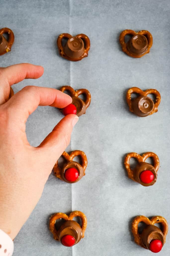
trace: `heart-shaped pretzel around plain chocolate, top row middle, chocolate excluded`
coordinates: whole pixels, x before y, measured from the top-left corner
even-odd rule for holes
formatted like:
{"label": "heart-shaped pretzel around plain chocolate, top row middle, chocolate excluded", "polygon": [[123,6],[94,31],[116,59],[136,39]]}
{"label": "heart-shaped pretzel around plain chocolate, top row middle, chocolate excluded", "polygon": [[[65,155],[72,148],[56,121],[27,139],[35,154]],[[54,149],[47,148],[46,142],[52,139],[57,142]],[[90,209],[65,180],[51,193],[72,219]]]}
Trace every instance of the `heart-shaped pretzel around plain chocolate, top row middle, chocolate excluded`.
{"label": "heart-shaped pretzel around plain chocolate, top row middle, chocolate excluded", "polygon": [[63,38],[66,38],[66,39],[69,39],[71,38],[72,35],[68,34],[68,33],[63,33],[61,35],[59,35],[59,37],[57,38],[57,46],[58,46],[58,50],[59,50],[59,54],[67,59],[67,60],[72,60],[72,61],[79,61],[85,57],[88,56],[88,51],[90,49],[90,39],[88,38],[88,36],[86,36],[85,34],[79,34],[79,35],[76,35],[75,37],[79,37],[81,39],[83,39],[83,41],[85,42],[85,46],[84,46],[84,53],[82,54],[81,57],[79,58],[71,58],[71,57],[68,57],[66,56],[66,54],[64,53],[64,48],[62,46],[62,39]]}

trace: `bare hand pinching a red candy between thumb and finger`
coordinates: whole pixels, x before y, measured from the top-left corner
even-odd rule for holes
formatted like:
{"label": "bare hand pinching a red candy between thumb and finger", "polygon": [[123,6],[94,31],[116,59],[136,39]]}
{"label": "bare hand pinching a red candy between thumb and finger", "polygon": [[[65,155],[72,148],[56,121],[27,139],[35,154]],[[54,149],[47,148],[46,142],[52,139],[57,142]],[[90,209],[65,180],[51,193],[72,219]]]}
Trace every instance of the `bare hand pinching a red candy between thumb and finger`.
{"label": "bare hand pinching a red candy between thumb and finger", "polygon": [[72,103],[65,93],[35,86],[24,87],[8,100],[12,84],[37,79],[43,72],[43,67],[28,63],[0,68],[0,229],[12,239],[40,199],[78,121],[76,115],[67,115],[38,147],[29,144],[25,123],[38,105],[64,108]]}

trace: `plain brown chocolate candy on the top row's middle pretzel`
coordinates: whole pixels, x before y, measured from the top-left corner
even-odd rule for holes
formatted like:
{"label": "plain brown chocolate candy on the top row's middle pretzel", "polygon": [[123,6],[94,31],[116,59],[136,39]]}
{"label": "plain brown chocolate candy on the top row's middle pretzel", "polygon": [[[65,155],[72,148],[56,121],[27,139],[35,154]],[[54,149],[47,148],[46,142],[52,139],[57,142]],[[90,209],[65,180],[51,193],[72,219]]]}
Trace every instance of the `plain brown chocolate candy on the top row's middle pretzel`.
{"label": "plain brown chocolate candy on the top row's middle pretzel", "polygon": [[77,59],[81,57],[84,53],[84,42],[79,37],[71,37],[68,39],[63,49],[64,53],[68,57],[72,59]]}

